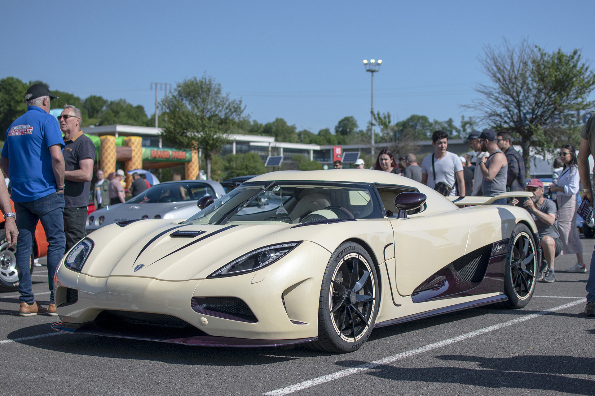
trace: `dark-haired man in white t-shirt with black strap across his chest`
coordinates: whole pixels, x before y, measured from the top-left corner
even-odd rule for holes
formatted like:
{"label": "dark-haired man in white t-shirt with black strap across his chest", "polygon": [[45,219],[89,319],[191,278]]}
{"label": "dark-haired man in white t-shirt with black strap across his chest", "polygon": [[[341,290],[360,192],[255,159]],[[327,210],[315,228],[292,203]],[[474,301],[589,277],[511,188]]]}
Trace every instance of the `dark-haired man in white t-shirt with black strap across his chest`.
{"label": "dark-haired man in white t-shirt with black strap across his chest", "polygon": [[[432,145],[434,153],[426,156],[421,163],[421,182],[430,188],[435,188],[436,183],[444,182],[452,190],[450,195],[456,194],[455,182],[459,186],[459,195],[465,196],[465,179],[463,176],[463,164],[459,156],[450,151],[448,147],[448,135],[443,131],[436,131],[432,134]],[[434,163],[434,167],[432,167]],[[433,168],[436,169],[434,175]]]}

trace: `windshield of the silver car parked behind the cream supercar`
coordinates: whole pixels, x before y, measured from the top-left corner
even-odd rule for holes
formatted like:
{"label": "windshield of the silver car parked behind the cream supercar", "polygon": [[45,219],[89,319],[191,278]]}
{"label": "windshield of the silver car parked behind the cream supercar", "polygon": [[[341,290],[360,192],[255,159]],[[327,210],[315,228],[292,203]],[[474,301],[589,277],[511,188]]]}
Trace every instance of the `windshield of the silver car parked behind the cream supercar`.
{"label": "windshield of the silver car parked behind the cream supercar", "polygon": [[127,204],[154,204],[157,202],[196,201],[205,195],[215,197],[215,191],[206,183],[161,183],[126,201]]}

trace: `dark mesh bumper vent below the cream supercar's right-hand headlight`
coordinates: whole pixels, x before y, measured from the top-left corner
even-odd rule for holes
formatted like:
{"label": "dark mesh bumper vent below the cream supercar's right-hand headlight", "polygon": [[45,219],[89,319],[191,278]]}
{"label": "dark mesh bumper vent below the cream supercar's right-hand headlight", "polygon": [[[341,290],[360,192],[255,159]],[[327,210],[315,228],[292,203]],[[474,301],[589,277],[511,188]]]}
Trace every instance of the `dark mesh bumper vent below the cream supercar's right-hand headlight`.
{"label": "dark mesh bumper vent below the cream supercar's right-hand headlight", "polygon": [[192,297],[192,309],[217,318],[258,322],[250,307],[237,297]]}

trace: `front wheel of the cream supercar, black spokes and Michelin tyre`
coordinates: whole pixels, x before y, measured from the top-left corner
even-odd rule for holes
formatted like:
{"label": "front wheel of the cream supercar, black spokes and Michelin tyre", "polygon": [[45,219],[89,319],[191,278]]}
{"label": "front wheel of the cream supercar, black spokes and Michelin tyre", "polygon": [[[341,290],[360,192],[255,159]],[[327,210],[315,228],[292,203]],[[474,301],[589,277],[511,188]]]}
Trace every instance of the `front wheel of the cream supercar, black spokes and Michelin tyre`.
{"label": "front wheel of the cream supercar, black spokes and Michelin tyre", "polygon": [[378,280],[367,251],[345,242],[328,262],[320,292],[318,341],[314,350],[346,353],[358,350],[374,328]]}

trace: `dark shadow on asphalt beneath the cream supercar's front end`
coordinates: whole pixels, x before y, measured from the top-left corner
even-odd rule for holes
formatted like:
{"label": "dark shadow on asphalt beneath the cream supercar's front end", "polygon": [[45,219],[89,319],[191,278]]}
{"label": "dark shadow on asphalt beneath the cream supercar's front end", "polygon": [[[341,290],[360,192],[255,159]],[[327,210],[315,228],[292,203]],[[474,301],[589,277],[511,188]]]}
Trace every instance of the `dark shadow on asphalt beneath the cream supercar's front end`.
{"label": "dark shadow on asphalt beneath the cream supercar's front end", "polygon": [[[56,318],[58,320],[58,318]],[[9,340],[51,333],[50,324],[33,325],[12,331]],[[77,354],[115,359],[151,360],[176,365],[192,366],[258,366],[289,362],[300,357],[328,356],[302,348],[226,348],[193,347],[156,341],[129,340],[98,335],[64,334],[60,337],[43,337],[15,341],[35,348],[66,354]]]}

